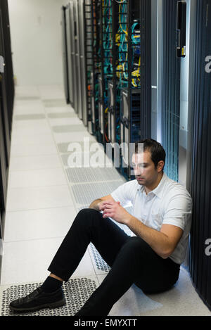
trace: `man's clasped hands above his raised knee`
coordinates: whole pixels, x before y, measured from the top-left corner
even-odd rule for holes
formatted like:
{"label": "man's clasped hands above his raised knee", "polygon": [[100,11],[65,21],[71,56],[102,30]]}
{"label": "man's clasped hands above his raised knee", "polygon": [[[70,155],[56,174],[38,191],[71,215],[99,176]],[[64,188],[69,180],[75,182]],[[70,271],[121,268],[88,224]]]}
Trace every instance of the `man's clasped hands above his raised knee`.
{"label": "man's clasped hands above his raised knee", "polygon": [[120,224],[127,224],[127,221],[131,217],[129,212],[122,208],[120,202],[107,200],[99,203],[98,206],[99,210],[103,211],[103,217],[111,217]]}

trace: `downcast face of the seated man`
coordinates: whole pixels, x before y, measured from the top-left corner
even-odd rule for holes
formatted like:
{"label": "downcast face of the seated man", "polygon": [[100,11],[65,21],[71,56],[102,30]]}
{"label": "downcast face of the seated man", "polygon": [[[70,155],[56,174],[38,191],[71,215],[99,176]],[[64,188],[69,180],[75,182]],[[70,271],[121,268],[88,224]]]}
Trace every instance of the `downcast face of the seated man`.
{"label": "downcast face of the seated man", "polygon": [[158,179],[158,170],[151,160],[151,152],[134,153],[132,156],[132,166],[136,180],[141,186],[152,186]]}

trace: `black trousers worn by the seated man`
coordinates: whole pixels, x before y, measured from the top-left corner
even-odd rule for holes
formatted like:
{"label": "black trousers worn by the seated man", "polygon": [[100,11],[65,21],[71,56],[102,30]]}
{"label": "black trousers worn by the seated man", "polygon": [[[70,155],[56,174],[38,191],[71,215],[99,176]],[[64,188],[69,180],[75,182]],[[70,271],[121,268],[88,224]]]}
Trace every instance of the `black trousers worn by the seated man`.
{"label": "black trousers worn by the seated man", "polygon": [[143,292],[158,293],[168,290],[179,277],[178,264],[170,258],[162,259],[143,239],[128,236],[112,220],[92,209],[79,211],[49,272],[68,281],[90,242],[111,269],[79,315],[108,315],[132,284]]}

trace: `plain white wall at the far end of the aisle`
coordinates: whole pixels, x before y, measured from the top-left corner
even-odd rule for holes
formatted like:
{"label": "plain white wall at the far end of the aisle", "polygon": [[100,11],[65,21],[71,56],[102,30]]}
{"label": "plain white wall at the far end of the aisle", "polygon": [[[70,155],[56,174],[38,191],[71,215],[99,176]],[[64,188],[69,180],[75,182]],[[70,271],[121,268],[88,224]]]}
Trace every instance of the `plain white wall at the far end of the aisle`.
{"label": "plain white wall at the far end of the aisle", "polygon": [[63,84],[60,8],[66,2],[8,0],[13,68],[19,86]]}

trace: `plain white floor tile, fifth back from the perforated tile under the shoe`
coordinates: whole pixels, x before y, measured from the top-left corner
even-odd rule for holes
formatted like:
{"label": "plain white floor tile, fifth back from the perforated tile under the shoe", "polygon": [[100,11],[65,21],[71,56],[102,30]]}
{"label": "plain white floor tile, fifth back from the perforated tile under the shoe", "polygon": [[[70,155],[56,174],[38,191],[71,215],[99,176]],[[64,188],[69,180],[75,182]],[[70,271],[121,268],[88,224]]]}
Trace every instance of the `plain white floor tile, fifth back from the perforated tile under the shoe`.
{"label": "plain white floor tile, fifth back from the perforated tile under the shoe", "polygon": [[41,155],[41,156],[11,156],[11,171],[41,170],[61,167],[58,155]]}

